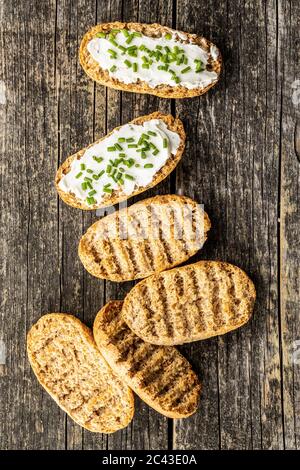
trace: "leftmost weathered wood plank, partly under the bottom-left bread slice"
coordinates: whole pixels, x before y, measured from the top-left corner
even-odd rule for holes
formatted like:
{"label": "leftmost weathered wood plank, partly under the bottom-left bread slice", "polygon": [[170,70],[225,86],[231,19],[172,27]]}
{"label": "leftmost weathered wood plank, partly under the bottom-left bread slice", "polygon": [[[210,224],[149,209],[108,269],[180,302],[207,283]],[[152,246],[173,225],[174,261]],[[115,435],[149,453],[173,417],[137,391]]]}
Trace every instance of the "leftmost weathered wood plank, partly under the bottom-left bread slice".
{"label": "leftmost weathered wood plank, partly under the bottom-left bread slice", "polygon": [[1,2],[1,448],[59,449],[65,415],[26,359],[26,331],[60,306],[55,1]]}

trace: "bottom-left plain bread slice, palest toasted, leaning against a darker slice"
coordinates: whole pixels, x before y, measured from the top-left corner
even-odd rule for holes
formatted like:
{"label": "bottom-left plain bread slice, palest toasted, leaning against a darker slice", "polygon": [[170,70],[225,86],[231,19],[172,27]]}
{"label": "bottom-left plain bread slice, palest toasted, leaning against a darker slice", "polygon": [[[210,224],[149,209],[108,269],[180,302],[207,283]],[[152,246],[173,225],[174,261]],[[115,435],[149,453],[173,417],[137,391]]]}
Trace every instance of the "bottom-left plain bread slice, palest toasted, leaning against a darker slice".
{"label": "bottom-left plain bread slice, palest toasted, leaning against a darker slice", "polygon": [[44,315],[28,333],[31,367],[45,390],[80,426],[112,433],[134,413],[132,391],[98,351],[92,332],[72,315]]}

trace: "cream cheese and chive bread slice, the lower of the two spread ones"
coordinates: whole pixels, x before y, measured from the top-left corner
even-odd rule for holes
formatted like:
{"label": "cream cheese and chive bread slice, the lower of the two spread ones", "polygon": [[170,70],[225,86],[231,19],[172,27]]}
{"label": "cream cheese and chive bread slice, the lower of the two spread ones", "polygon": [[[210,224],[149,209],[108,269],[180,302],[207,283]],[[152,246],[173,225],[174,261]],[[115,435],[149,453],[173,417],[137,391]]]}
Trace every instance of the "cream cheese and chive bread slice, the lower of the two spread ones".
{"label": "cream cheese and chive bread slice, the lower of the two spread ones", "polygon": [[[149,125],[151,125],[150,121],[152,123],[155,123],[155,122],[158,121],[158,123],[160,123],[160,126],[161,125],[166,126],[166,130],[167,130],[167,132],[169,132],[167,137],[169,137],[170,135],[178,136],[178,137],[176,137],[177,140],[178,140],[178,145],[176,145],[176,150],[174,150],[172,148],[171,140],[170,140],[168,142],[168,152],[169,152],[168,153],[168,158],[165,160],[165,163],[163,164],[163,166],[160,167],[160,165],[158,165],[157,167],[155,167],[155,164],[157,165],[157,163],[155,163],[155,162],[158,161],[157,159],[160,157],[162,152],[158,153],[158,155],[157,155],[155,150],[153,152],[151,152],[151,150],[153,150],[153,149],[150,149],[150,151],[147,152],[147,154],[146,154],[147,158],[139,160],[140,161],[140,163],[139,163],[140,168],[139,169],[135,168],[136,165],[133,165],[133,166],[129,167],[129,165],[131,165],[132,160],[133,160],[133,159],[127,158],[129,151],[133,152],[133,153],[136,153],[135,163],[138,163],[138,158],[141,158],[140,157],[141,153],[139,152],[140,149],[138,149],[138,148],[137,149],[128,148],[131,145],[133,145],[135,147],[137,146],[136,144],[138,143],[138,137],[136,138],[136,140],[133,144],[129,143],[129,142],[125,142],[125,144],[123,144],[123,143],[120,144],[119,142],[117,142],[118,137],[120,137],[123,130],[124,130],[124,132],[125,132],[125,129],[128,130],[128,126],[130,126],[130,125],[136,125],[136,126],[140,126],[140,127],[141,126],[144,127],[144,125],[149,126]],[[144,132],[143,128],[141,128],[140,132]],[[174,133],[174,134],[172,134],[172,133]],[[153,132],[152,132],[152,134],[153,134]],[[163,132],[162,136],[166,137],[166,134]],[[133,135],[133,137],[135,137],[135,135]],[[105,149],[102,149],[102,148],[101,148],[101,150],[99,149],[99,145],[102,145],[104,140],[112,139],[112,138],[114,140],[116,140],[117,145],[119,146],[119,148],[122,148],[122,150],[116,149],[114,152],[111,152],[111,151],[108,152],[107,150],[110,149],[111,143],[108,144],[110,146],[108,146],[108,147],[105,146]],[[156,139],[156,138],[157,137],[155,137],[155,136],[153,137],[153,135],[151,136],[151,139]],[[123,140],[122,137],[121,137],[121,140]],[[163,139],[163,140],[167,140],[167,139]],[[153,145],[151,140],[149,142],[150,142],[149,145]],[[98,146],[98,148],[97,148],[97,146]],[[141,146],[143,147],[142,144],[141,144]],[[182,124],[180,119],[174,118],[170,114],[162,114],[160,112],[154,112],[154,113],[146,115],[146,116],[140,116],[136,119],[133,119],[132,121],[130,121],[128,124],[126,124],[124,126],[116,127],[112,132],[110,132],[106,136],[104,136],[101,139],[97,140],[96,142],[92,143],[88,147],[80,150],[79,152],[75,153],[74,155],[71,155],[70,157],[68,157],[64,161],[64,163],[59,167],[59,169],[57,170],[57,173],[56,173],[55,186],[56,186],[58,195],[60,196],[60,198],[66,204],[69,204],[72,207],[76,207],[78,209],[84,209],[84,210],[94,210],[94,209],[98,209],[98,208],[101,208],[101,207],[107,207],[107,206],[110,206],[110,205],[113,205],[113,204],[120,203],[122,201],[125,201],[126,199],[129,199],[132,196],[135,196],[137,194],[140,194],[140,193],[146,191],[149,188],[152,188],[153,186],[156,186],[158,183],[160,183],[160,181],[164,180],[174,170],[174,168],[178,164],[179,160],[181,159],[182,153],[184,151],[184,147],[185,147],[185,132],[184,132],[183,124]],[[97,153],[99,151],[100,151],[100,153]],[[105,152],[105,153],[103,154],[103,152]],[[174,153],[172,153],[172,152],[174,152]],[[89,162],[87,164],[87,162],[85,160],[87,158],[87,155],[88,155],[88,158],[91,160],[92,163]],[[125,156],[125,158],[123,158],[124,156]],[[144,156],[142,156],[142,158],[143,157]],[[91,166],[91,164],[95,164],[95,161],[93,160],[95,158],[96,158],[96,161],[97,161],[97,158],[98,158],[98,161],[100,162],[99,163],[99,173],[98,172],[93,173],[91,168],[88,168],[89,166]],[[119,162],[119,164],[118,164],[118,166],[116,166],[116,168],[109,164],[109,162],[112,161],[112,159],[114,161]],[[85,160],[85,163],[81,163],[81,162],[83,162],[83,160]],[[121,160],[122,160],[122,162],[121,162]],[[150,161],[152,163],[149,163]],[[106,165],[106,163],[107,163],[107,165]],[[143,168],[144,165],[146,165],[146,168]],[[147,165],[148,165],[148,167],[147,167]],[[152,165],[152,167],[154,166],[154,170],[149,168],[149,165]],[[83,166],[83,169],[81,169],[81,166]],[[101,199],[96,200],[95,198],[97,197],[97,195],[93,194],[93,192],[94,192],[93,190],[95,190],[96,185],[99,185],[99,186],[97,186],[97,189],[99,189],[99,190],[101,189],[103,191],[103,188],[102,188],[101,184],[102,184],[103,178],[107,178],[106,175],[107,175],[107,172],[108,172],[108,166],[112,166],[112,168],[111,168],[112,172],[114,170],[117,170],[118,168],[121,168],[121,170],[123,170],[123,171],[125,170],[126,173],[130,173],[133,170],[134,171],[138,170],[140,172],[140,181],[139,180],[136,181],[136,184],[132,188],[132,191],[124,192],[124,185],[121,184],[122,183],[122,178],[120,178],[118,180],[118,182],[120,182],[120,184],[117,184],[116,181],[113,181],[111,179],[110,181],[113,181],[114,187],[112,189],[110,189],[110,187],[106,188],[104,190],[106,192],[103,192],[101,194]],[[156,170],[156,168],[157,168],[157,171],[154,173],[153,178],[150,181],[150,183],[143,185],[143,174],[144,174],[143,172],[149,172],[149,171],[153,172],[153,171]],[[73,178],[72,181],[73,181],[73,186],[74,185],[75,186],[74,186],[74,188],[72,188],[72,184],[71,184],[71,187],[69,187],[69,185],[68,185],[68,188],[66,188],[66,187],[64,187],[65,186],[64,185],[64,181],[65,181],[64,178],[65,178],[66,175],[69,176],[71,174],[70,173],[71,171],[74,172],[74,178]],[[92,173],[88,173],[90,171],[92,171]],[[75,174],[76,174],[76,176],[75,176]],[[118,174],[119,173],[117,172],[116,175],[118,175]],[[132,178],[132,175],[127,175],[127,176]],[[130,181],[130,180],[124,179],[125,183],[128,183],[128,181]],[[89,187],[87,187],[83,191],[81,191],[82,184],[87,184]],[[109,182],[108,182],[108,184],[109,184]],[[78,187],[78,185],[79,185],[79,187]],[[103,185],[107,186],[107,184],[105,185],[104,183],[103,183]],[[77,196],[76,196],[75,192],[77,192]],[[85,196],[81,195],[80,192],[84,192],[84,194],[87,197],[85,198]],[[95,191],[95,193],[96,193],[96,191]],[[89,196],[90,194],[92,194],[92,196]]]}

